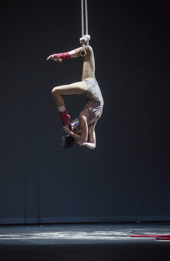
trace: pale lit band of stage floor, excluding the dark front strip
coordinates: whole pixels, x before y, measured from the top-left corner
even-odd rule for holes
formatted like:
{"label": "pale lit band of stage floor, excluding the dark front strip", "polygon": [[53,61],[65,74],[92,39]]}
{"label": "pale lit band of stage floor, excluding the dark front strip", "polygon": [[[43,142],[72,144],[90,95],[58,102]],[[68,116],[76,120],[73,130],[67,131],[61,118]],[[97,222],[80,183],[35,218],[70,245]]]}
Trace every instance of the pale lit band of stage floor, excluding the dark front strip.
{"label": "pale lit band of stage floor, excluding the dark front strip", "polygon": [[[159,231],[158,231],[159,230]],[[155,240],[154,238],[131,238],[133,234],[167,234],[168,226],[154,226],[153,224],[79,224],[79,225],[30,225],[30,226],[4,226],[0,229],[0,244],[9,242],[16,244],[18,241],[28,242],[112,242],[112,241],[137,241]],[[4,232],[4,233],[3,233]],[[7,233],[8,232],[8,233]]]}

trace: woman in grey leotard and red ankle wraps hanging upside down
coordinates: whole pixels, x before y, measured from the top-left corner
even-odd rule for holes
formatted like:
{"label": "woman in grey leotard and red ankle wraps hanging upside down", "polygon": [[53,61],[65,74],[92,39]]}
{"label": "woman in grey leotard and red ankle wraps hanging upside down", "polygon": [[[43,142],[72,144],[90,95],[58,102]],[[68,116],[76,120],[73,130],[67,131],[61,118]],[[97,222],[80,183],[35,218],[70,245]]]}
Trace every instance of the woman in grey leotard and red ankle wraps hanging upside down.
{"label": "woman in grey leotard and red ankle wraps hanging upside down", "polygon": [[[50,55],[47,60],[62,62],[64,59],[71,59],[81,56],[82,48],[77,48],[70,52]],[[65,148],[70,148],[77,143],[94,149],[95,125],[102,115],[103,98],[95,79],[95,61],[91,46],[85,46],[86,56],[83,61],[82,81],[73,84],[57,86],[53,88],[53,99],[59,109],[64,131],[67,135],[63,137],[62,144]],[[61,95],[79,94],[86,99],[86,104],[79,114],[79,117],[69,123],[70,115],[67,114],[64,100]],[[87,136],[89,134],[89,142]]]}

